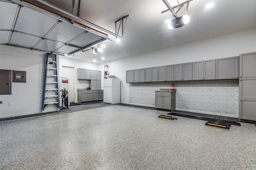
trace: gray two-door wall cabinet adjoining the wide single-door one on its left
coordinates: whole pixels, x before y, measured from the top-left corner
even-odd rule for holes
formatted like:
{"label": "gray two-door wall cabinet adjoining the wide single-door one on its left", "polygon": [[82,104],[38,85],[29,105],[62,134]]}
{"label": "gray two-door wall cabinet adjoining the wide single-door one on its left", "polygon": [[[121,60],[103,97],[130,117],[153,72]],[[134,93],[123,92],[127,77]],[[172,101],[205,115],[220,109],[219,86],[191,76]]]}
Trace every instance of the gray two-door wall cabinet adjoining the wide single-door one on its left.
{"label": "gray two-door wall cabinet adjoining the wide single-door one on its left", "polygon": [[216,63],[214,60],[193,62],[193,80],[216,79]]}

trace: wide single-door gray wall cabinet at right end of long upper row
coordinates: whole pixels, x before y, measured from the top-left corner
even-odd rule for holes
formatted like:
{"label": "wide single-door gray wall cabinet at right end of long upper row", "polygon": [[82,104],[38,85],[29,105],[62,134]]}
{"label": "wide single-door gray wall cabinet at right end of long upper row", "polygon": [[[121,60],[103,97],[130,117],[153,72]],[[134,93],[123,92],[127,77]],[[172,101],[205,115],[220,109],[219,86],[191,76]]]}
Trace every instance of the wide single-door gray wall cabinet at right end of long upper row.
{"label": "wide single-door gray wall cabinet at right end of long upper row", "polygon": [[216,59],[216,79],[236,79],[239,75],[239,57]]}

